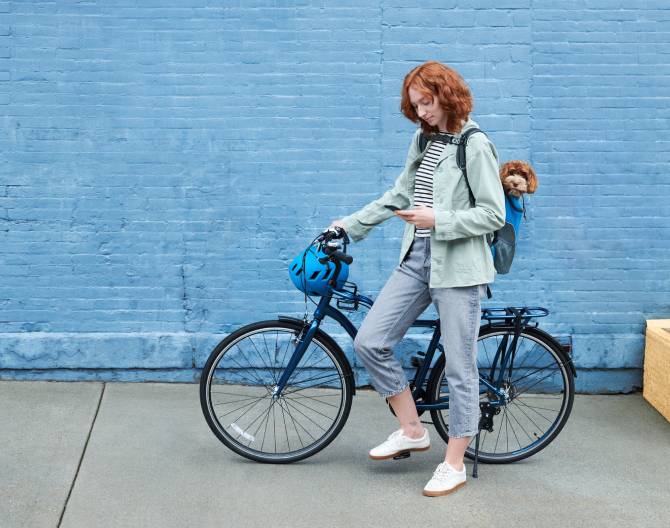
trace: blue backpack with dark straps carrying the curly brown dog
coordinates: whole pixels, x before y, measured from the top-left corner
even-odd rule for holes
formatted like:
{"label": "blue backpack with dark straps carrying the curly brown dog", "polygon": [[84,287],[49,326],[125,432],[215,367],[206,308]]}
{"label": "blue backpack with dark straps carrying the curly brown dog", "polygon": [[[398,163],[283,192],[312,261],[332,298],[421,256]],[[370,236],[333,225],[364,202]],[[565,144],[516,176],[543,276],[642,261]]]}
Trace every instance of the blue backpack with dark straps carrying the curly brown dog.
{"label": "blue backpack with dark straps carrying the curly brown dog", "polygon": [[[475,196],[472,194],[470,182],[468,181],[468,172],[465,166],[465,145],[468,142],[468,138],[477,132],[486,135],[478,128],[471,128],[466,130],[458,139],[438,132],[433,134],[430,138],[425,134],[421,134],[419,140],[419,148],[421,152],[426,149],[428,141],[442,141],[443,143],[458,145],[458,149],[456,150],[456,163],[461,171],[463,171],[465,184],[468,187],[470,198],[474,203],[477,202]],[[493,232],[493,238],[491,238],[490,235],[486,235],[486,240],[491,247],[491,253],[493,254],[493,265],[495,266],[496,271],[501,275],[509,273],[512,260],[514,260],[514,249],[516,248],[516,240],[519,235],[521,217],[525,217],[525,213],[526,208],[525,206],[519,206],[518,198],[515,198],[510,194],[505,194],[505,225]]]}

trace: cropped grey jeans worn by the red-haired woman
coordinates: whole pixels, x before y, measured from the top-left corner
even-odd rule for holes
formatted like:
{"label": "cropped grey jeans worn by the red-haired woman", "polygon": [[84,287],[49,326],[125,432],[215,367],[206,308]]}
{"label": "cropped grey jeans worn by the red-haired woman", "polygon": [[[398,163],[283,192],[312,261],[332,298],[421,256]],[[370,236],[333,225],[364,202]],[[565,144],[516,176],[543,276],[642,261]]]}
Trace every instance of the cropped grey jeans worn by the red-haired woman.
{"label": "cropped grey jeans worn by the red-haired woman", "polygon": [[479,422],[477,335],[486,285],[430,288],[429,283],[430,238],[415,236],[363,321],[354,349],[381,397],[401,393],[409,383],[393,347],[431,301],[435,303],[449,383],[449,436],[472,436]]}

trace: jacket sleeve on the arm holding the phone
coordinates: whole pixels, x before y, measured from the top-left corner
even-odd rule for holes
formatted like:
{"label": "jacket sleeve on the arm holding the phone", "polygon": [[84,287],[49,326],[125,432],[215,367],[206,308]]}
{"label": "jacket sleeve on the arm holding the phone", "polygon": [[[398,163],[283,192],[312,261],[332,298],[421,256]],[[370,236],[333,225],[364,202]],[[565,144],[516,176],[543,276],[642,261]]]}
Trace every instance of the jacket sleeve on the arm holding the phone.
{"label": "jacket sleeve on the arm holding the phone", "polygon": [[466,161],[475,206],[435,211],[435,237],[438,240],[485,235],[505,225],[505,194],[498,172],[498,154],[488,140],[480,140],[475,145],[481,148],[473,149]]}

